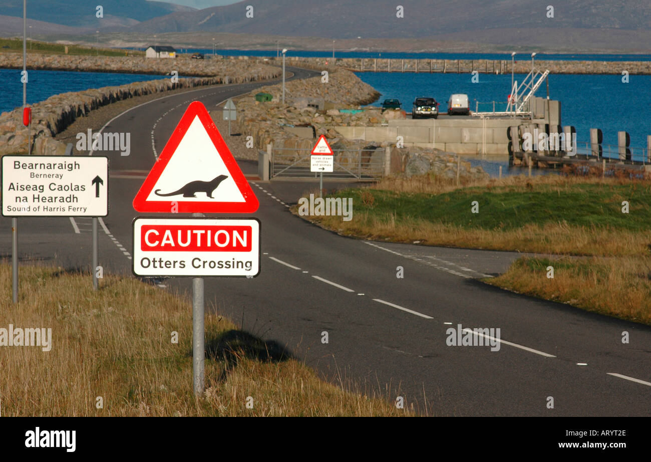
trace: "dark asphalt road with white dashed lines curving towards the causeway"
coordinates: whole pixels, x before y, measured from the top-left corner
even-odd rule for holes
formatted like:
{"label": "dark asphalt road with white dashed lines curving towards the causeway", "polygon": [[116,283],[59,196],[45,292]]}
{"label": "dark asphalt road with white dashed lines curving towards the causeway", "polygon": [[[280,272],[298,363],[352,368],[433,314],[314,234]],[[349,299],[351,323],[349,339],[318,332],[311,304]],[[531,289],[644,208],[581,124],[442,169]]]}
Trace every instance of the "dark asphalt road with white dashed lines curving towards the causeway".
{"label": "dark asphalt road with white dashed lines curving towards the causeway", "polygon": [[[105,270],[130,274],[133,197],[189,102],[210,108],[258,85],[163,96],[105,127],[132,133],[130,156],[97,152],[111,165],[110,213],[100,222]],[[245,142],[244,136],[225,138]],[[251,162],[240,165],[245,174],[256,171]],[[432,415],[651,415],[651,328],[478,281],[503,272],[516,253],[340,237],[288,211],[316,182],[251,183],[260,200],[254,214],[262,222],[260,276],[206,280],[207,309],[284,345],[328,379],[392,400],[403,396]],[[334,186],[326,182],[326,188]],[[90,219],[18,222],[23,261],[89,268]],[[8,218],[1,219],[0,246],[7,258]],[[404,268],[404,278],[396,278],[397,267]],[[189,296],[191,280],[160,285]],[[499,350],[448,346],[447,329],[458,325],[499,328]],[[621,341],[624,331],[628,344]],[[548,397],[554,409],[547,408]]]}

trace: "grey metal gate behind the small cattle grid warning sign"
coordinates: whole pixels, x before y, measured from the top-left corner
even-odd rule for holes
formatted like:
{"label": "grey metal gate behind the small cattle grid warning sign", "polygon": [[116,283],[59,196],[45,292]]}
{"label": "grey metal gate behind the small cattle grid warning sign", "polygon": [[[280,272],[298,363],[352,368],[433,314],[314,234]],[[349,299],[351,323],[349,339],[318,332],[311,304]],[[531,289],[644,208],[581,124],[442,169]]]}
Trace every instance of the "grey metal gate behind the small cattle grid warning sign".
{"label": "grey metal gate behind the small cattle grid warning sign", "polygon": [[[385,150],[333,149],[335,162],[329,179],[374,180],[384,175]],[[317,178],[310,171],[311,149],[273,148],[271,151],[271,178]]]}

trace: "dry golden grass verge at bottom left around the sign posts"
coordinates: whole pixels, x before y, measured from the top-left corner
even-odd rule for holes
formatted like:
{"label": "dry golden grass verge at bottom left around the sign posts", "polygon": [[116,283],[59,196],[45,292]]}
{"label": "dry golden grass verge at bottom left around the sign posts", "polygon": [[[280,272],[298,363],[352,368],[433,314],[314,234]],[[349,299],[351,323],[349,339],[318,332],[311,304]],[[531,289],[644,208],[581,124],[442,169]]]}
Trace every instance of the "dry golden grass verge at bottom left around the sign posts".
{"label": "dry golden grass verge at bottom left around the sign posts", "polygon": [[10,281],[0,265],[0,328],[51,328],[52,341],[50,351],[0,346],[3,416],[413,414],[320,380],[217,315],[206,315],[206,394],[195,399],[188,302],[133,278],[109,276],[93,291],[87,274],[25,265],[14,305]]}

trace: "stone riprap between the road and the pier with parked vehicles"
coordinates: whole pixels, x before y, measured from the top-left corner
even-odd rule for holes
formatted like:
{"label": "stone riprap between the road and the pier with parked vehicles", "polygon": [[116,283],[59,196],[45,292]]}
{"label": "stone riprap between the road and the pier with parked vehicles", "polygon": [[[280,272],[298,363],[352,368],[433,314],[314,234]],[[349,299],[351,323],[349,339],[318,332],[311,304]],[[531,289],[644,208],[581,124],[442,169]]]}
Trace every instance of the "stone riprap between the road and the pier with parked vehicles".
{"label": "stone riprap between the road and the pier with parked vehicles", "polygon": [[[268,144],[283,149],[277,152],[282,152],[288,162],[305,156],[314,147],[316,137],[324,135],[332,149],[338,151],[335,152],[337,163],[344,167],[354,169],[357,162],[381,165],[388,147],[391,173],[422,175],[432,172],[446,178],[456,177],[457,156],[453,152],[426,147],[398,148],[395,142],[374,143],[341,136],[335,127],[381,125],[389,119],[404,118],[405,113],[362,109],[362,104],[370,104],[378,98],[378,92],[348,70],[327,69],[327,83],[321,76],[288,81],[285,104],[281,102],[282,85],[263,87],[238,98],[238,123],[242,133],[253,136],[257,149],[264,150]],[[270,93],[273,99],[256,101],[255,94],[260,92]],[[212,117],[221,117],[221,111],[214,111]],[[460,176],[484,179],[488,174],[481,167],[471,168],[469,163],[462,162]]]}

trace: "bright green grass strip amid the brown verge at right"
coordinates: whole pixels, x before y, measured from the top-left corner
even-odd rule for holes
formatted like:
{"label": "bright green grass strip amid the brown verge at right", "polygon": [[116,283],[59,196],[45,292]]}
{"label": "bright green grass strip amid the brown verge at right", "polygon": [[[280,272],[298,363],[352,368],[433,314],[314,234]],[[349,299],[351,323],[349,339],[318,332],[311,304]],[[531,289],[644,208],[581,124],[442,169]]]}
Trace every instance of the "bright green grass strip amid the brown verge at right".
{"label": "bright green grass strip amid the brown verge at right", "polygon": [[[651,224],[651,192],[639,184],[540,184],[525,191],[473,187],[437,195],[348,189],[335,197],[353,197],[356,213],[394,214],[398,222],[416,219],[465,229],[512,230],[561,222],[570,227],[648,231]],[[478,213],[471,212],[473,201],[478,202]],[[630,204],[628,214],[622,213],[622,201]]]}

